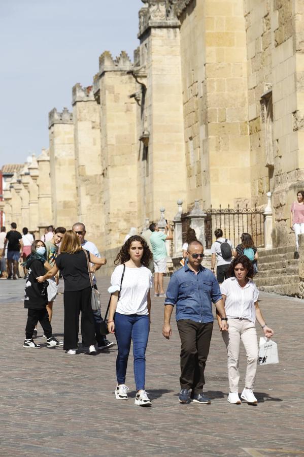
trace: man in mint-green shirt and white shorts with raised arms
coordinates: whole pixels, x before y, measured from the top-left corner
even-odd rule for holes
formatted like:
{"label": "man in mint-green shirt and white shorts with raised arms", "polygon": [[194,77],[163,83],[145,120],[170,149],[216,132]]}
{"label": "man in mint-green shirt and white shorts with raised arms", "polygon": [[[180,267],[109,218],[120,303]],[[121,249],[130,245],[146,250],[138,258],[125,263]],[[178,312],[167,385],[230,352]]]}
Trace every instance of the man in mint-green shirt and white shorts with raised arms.
{"label": "man in mint-green shirt and white shorts with raised arms", "polygon": [[153,253],[154,264],[154,297],[165,297],[163,290],[163,274],[166,273],[167,249],[166,240],[173,240],[172,231],[169,225],[165,226],[165,233],[159,231],[157,224],[152,223],[149,226],[152,234],[150,243]]}

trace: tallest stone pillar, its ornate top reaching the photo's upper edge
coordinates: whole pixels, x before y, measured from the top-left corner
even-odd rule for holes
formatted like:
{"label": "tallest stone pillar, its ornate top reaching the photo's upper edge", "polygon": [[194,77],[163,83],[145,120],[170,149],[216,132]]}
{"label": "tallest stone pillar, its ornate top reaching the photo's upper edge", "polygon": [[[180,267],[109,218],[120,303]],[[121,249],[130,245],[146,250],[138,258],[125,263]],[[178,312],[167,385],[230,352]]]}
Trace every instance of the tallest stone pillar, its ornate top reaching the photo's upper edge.
{"label": "tallest stone pillar, its ornate top reaching the photo's upper edge", "polygon": [[[137,89],[142,91],[138,102],[139,212],[155,220],[162,202],[168,219],[172,219],[177,199],[186,198],[187,186],[180,21],[166,0],[143,3],[145,7],[139,13],[140,49],[133,71],[139,82]],[[133,95],[137,97],[138,92]]]}

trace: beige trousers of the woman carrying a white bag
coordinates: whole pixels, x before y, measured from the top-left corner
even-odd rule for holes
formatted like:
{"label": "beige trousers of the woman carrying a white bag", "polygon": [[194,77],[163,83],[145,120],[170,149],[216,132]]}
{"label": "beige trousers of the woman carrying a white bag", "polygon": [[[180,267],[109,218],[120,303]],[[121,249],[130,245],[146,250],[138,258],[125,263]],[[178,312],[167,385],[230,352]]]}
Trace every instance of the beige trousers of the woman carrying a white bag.
{"label": "beige trousers of the woman carrying a white bag", "polygon": [[222,337],[227,348],[230,392],[239,391],[241,340],[247,355],[245,387],[253,389],[258,361],[258,344],[255,324],[250,320],[245,319],[228,319],[228,325],[229,330],[228,332],[222,332]]}

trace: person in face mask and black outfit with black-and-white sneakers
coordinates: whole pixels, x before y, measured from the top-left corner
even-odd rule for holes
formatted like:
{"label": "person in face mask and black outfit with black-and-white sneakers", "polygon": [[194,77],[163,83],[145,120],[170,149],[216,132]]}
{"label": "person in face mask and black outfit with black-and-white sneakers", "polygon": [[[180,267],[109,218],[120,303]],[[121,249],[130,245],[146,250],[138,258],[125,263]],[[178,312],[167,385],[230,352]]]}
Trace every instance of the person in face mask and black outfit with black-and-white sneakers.
{"label": "person in face mask and black outfit with black-and-white sneakers", "polygon": [[32,339],[33,330],[38,321],[47,337],[47,347],[62,346],[63,342],[56,340],[52,335],[52,327],[46,309],[48,303],[47,286],[48,282],[39,283],[37,277],[45,273],[45,268],[51,266],[46,262],[46,247],[43,241],[34,241],[31,245],[31,252],[26,257],[23,267],[27,270],[24,290],[24,308],[27,308],[27,323],[25,328],[25,348],[40,348]]}

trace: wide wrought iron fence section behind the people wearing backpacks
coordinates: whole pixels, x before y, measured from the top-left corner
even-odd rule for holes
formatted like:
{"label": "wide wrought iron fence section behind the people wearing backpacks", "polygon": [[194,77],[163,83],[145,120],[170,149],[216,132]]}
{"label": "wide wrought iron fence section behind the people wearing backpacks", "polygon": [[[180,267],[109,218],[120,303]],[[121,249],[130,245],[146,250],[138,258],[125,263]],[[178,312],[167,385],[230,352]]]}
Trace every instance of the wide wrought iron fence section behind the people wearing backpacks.
{"label": "wide wrought iron fence section behind the people wearing backpacks", "polygon": [[252,236],[255,246],[264,246],[264,216],[263,210],[256,205],[254,208],[236,209],[221,208],[214,209],[212,206],[205,211],[207,217],[205,219],[205,239],[206,248],[210,249],[212,245],[213,232],[216,228],[221,228],[223,236],[231,240],[234,246],[241,242],[241,235],[244,232]]}

